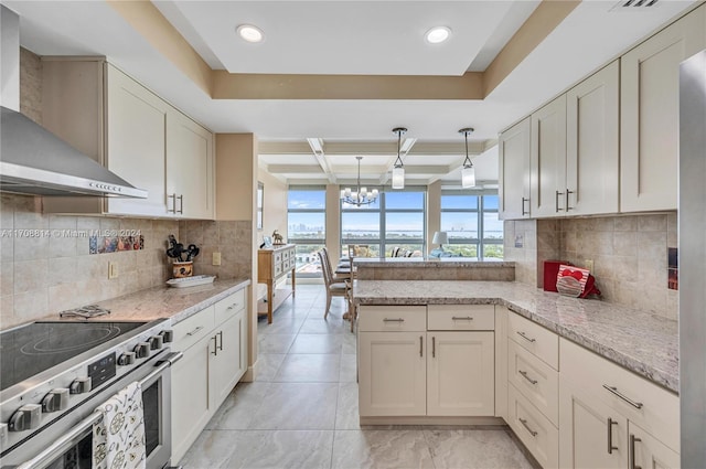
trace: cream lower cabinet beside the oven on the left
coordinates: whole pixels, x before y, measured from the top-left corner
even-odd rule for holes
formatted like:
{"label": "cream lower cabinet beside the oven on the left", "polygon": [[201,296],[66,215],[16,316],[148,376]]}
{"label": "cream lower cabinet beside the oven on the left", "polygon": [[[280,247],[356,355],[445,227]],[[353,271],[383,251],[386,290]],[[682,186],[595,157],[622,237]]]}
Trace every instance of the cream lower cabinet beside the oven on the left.
{"label": "cream lower cabinet beside the oven on the left", "polygon": [[174,324],[172,463],[205,428],[247,369],[245,290]]}

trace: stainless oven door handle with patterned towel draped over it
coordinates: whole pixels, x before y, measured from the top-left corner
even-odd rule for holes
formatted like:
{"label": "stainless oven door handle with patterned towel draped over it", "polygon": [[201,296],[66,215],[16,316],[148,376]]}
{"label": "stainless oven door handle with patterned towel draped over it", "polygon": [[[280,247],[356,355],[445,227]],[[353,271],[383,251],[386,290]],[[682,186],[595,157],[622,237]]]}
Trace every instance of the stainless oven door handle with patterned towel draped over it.
{"label": "stainless oven door handle with patterned towel draped over it", "polygon": [[[142,380],[140,380],[140,386],[147,385],[150,381],[159,376],[164,370],[170,367],[173,363],[176,363],[179,360],[181,360],[182,356],[184,355],[181,352],[172,352],[169,355],[164,356],[163,359],[158,360],[154,363],[154,370],[152,370],[150,374],[148,374]],[[29,461],[24,461],[20,466],[17,466],[15,469],[44,468],[46,465],[52,462],[54,458],[56,458],[56,455],[61,455],[66,449],[76,445],[83,437],[83,434],[88,428],[93,427],[95,424],[100,422],[101,419],[103,419],[103,413],[100,411],[94,412],[93,414],[90,414],[89,416],[81,420],[78,424],[76,424],[76,426],[73,427],[71,430],[66,431],[64,436],[55,440],[42,452],[40,452]]]}

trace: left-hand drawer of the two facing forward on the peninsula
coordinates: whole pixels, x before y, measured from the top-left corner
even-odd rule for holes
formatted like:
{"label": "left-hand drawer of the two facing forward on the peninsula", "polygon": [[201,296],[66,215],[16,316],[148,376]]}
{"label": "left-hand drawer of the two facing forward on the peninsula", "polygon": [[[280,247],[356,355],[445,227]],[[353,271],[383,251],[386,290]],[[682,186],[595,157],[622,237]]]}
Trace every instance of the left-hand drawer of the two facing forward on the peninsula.
{"label": "left-hand drawer of the two facing forward on the peninsula", "polygon": [[359,330],[405,332],[427,330],[426,306],[361,306]]}

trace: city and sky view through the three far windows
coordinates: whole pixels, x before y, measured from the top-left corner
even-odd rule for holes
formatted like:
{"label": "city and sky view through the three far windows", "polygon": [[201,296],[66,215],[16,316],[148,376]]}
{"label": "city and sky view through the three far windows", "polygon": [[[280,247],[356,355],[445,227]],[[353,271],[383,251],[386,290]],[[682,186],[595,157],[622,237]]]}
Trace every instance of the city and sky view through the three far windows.
{"label": "city and sky view through the three far windows", "polygon": [[[381,192],[372,204],[341,206],[341,253],[365,246],[370,257],[389,257],[394,248],[422,256],[438,245],[425,239],[426,191]],[[448,233],[445,257],[478,260],[503,258],[503,223],[498,218],[498,195],[445,191],[441,231]],[[288,241],[297,245],[297,275],[318,277],[317,252],[325,245],[325,188],[290,188]],[[384,253],[381,256],[381,253]]]}

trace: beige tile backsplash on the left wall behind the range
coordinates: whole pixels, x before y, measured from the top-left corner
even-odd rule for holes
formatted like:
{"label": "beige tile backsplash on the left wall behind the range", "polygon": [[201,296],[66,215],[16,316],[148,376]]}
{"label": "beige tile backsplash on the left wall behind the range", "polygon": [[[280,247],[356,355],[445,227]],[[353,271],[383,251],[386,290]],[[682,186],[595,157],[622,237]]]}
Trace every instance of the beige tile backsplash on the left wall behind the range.
{"label": "beige tile backsplash on the left wall behind the range", "polygon": [[[90,233],[121,231],[140,233],[143,249],[90,254]],[[0,194],[0,328],[163,285],[178,231],[170,220],[46,215],[40,198]]]}

